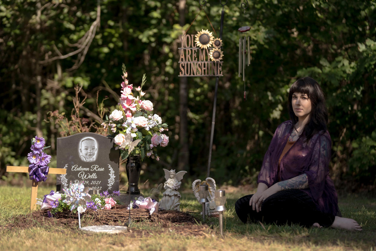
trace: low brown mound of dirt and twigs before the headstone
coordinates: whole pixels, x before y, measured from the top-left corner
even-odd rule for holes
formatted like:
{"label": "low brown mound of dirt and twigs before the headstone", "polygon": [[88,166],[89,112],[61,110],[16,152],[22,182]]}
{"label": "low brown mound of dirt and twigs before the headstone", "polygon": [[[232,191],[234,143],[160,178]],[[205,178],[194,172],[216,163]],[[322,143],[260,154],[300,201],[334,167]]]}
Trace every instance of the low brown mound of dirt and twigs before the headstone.
{"label": "low brown mound of dirt and twigs before the headstone", "polygon": [[[174,210],[161,210],[158,213],[150,215],[148,210],[132,209],[130,210],[132,222],[143,221],[143,225],[156,225],[162,227],[166,232],[177,232],[183,235],[206,236],[208,226],[197,224],[199,220],[188,213]],[[129,219],[129,210],[124,205],[117,205],[111,210],[86,210],[81,215],[81,226],[92,225],[127,225]],[[57,213],[54,217],[49,217],[47,211],[37,210],[27,215],[16,216],[12,224],[5,228],[31,228],[31,227],[63,227],[68,229],[78,228],[78,214],[70,211]],[[145,236],[145,230],[137,230],[137,227],[131,225],[129,233],[133,236]]]}

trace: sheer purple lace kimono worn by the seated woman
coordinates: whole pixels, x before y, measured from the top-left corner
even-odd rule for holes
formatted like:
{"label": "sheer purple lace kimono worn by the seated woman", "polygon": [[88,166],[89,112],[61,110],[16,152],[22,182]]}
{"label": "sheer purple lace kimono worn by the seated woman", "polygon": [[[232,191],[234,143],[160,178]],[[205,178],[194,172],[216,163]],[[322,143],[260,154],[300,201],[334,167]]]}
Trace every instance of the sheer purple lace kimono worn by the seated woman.
{"label": "sheer purple lace kimono worn by the seated woman", "polygon": [[305,173],[309,188],[302,191],[312,198],[321,212],[340,216],[337,192],[329,177],[332,143],[328,131],[313,135],[307,142],[304,142],[304,137],[300,137],[281,159],[278,174],[278,160],[292,129],[291,120],[280,124],[276,129],[264,156],[258,183],[262,182],[270,187],[278,182],[279,177],[283,181]]}

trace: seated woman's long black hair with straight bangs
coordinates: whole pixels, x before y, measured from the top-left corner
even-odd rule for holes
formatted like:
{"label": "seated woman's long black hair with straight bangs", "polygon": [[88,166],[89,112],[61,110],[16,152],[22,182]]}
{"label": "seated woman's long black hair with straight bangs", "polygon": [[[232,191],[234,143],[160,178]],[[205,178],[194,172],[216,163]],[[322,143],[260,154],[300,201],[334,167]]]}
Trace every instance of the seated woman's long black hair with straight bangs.
{"label": "seated woman's long black hair with straight bangs", "polygon": [[302,136],[309,140],[317,132],[324,133],[326,131],[326,124],[328,122],[328,112],[326,109],[325,97],[320,85],[309,77],[298,79],[290,87],[288,94],[288,112],[290,119],[294,125],[298,122],[298,117],[295,116],[293,105],[291,103],[294,93],[306,94],[311,100],[312,110],[309,114],[309,121],[304,126]]}

